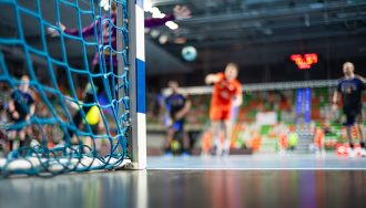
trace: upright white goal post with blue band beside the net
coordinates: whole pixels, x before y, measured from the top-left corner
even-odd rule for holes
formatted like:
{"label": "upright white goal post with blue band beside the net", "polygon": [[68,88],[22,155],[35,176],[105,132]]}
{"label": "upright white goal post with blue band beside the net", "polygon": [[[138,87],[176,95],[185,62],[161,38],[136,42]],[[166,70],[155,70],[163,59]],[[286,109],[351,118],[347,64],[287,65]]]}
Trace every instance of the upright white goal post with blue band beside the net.
{"label": "upright white goal post with blue band beside the net", "polygon": [[[128,1],[128,9],[129,18],[125,23],[129,24],[129,69],[123,66],[123,60],[119,60],[119,72],[121,74],[124,70],[129,70],[131,117],[129,150],[132,153],[132,168],[144,169],[146,167],[146,104],[143,0]],[[119,7],[119,10],[122,8]],[[118,15],[118,24],[122,25],[122,11],[119,11]],[[123,46],[122,38],[118,39],[118,46]],[[119,59],[122,58],[119,56]]]}

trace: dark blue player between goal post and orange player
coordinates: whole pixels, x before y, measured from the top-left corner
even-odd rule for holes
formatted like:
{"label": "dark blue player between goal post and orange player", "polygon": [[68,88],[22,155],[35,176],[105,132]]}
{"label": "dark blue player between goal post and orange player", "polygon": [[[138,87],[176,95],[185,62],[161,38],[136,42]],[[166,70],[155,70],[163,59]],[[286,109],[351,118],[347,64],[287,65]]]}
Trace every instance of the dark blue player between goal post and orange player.
{"label": "dark blue player between goal post and orange player", "polygon": [[175,81],[169,82],[172,94],[165,98],[165,107],[170,116],[170,122],[165,139],[165,155],[171,155],[171,143],[175,133],[182,135],[183,155],[190,155],[190,138],[184,128],[185,116],[191,110],[191,101],[187,95],[179,92],[179,84]]}

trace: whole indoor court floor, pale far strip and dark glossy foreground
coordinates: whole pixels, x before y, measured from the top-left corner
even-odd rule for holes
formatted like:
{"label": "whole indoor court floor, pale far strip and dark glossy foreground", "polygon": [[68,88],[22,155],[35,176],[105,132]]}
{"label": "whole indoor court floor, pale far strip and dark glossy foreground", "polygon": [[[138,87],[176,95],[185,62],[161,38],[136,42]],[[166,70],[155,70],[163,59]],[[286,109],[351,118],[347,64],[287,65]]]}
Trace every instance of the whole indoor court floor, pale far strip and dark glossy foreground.
{"label": "whole indoor court floor, pale far strip and dark glossy foreground", "polygon": [[365,207],[366,158],[149,157],[146,170],[0,179],[1,208]]}

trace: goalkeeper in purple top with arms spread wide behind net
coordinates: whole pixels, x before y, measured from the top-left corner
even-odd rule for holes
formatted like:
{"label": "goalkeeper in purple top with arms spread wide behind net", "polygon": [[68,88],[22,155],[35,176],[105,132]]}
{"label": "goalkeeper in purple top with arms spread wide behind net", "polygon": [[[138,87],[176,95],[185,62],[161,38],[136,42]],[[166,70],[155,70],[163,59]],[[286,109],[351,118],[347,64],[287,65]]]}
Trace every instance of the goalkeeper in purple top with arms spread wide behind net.
{"label": "goalkeeper in purple top with arms spread wide behind net", "polygon": [[[109,15],[103,15],[102,20],[110,18],[110,21],[113,23],[113,25],[116,25],[116,3],[112,2],[111,3],[111,14]],[[186,19],[191,18],[191,10],[186,7],[181,7],[176,6],[173,9],[173,14],[167,14],[164,18],[151,18],[151,19],[145,19],[145,27],[148,28],[153,28],[153,27],[159,27],[163,25],[167,21],[172,20],[181,20],[181,19]],[[110,25],[110,21],[102,21],[102,23],[96,20],[95,22],[91,23],[89,27],[85,27],[82,29],[80,32],[83,38],[87,37],[93,37],[95,35],[95,30],[96,29],[96,34],[98,34],[98,42],[100,44],[103,43],[103,46],[106,46],[104,51],[99,51],[95,53],[94,59],[93,59],[93,72],[99,73],[102,72],[102,69],[105,69],[106,71],[110,70],[110,65],[113,65],[113,73],[116,74],[116,67],[118,67],[118,59],[116,59],[116,53],[114,53],[112,50],[110,50],[110,46],[113,50],[116,50],[116,29],[113,25]],[[65,25],[63,25],[61,22],[58,23],[62,32],[70,34],[70,35],[79,35],[79,30],[78,29],[67,29]],[[100,30],[102,30],[102,37],[100,37]],[[51,37],[59,37],[60,32],[53,28],[49,28],[48,32]],[[101,48],[104,49],[104,48]],[[111,58],[112,56],[112,58]],[[100,63],[100,60],[102,63]],[[106,97],[112,97],[115,100],[115,90],[113,86],[118,84],[118,81],[115,79],[112,79],[112,76],[109,76],[108,80],[108,85],[110,86],[110,93],[108,93],[108,90],[104,86],[104,81],[101,76],[94,77],[93,79],[96,96],[99,96],[101,93],[105,93]],[[113,84],[114,83],[114,84]],[[83,101],[83,103],[95,103],[94,101],[94,93],[92,89],[90,87],[89,90],[85,90],[84,93],[87,93],[87,96]],[[110,94],[110,96],[108,96]],[[111,103],[111,101],[109,102]],[[85,114],[90,110],[91,106],[83,106],[83,111]],[[81,112],[77,112],[74,117],[73,117],[73,123],[78,126],[81,121],[82,121],[82,114]],[[72,137],[73,131],[69,131],[69,136]]]}

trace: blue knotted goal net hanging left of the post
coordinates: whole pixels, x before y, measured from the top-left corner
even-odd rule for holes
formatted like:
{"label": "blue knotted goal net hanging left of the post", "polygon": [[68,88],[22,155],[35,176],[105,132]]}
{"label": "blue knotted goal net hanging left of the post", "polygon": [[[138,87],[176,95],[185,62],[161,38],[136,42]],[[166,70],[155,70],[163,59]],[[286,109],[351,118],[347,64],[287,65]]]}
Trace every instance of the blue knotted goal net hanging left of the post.
{"label": "blue knotted goal net hanging left of the post", "polygon": [[[129,13],[125,0],[111,3],[0,0],[8,18],[2,21],[11,24],[11,32],[0,33],[1,101],[7,114],[1,131],[8,142],[14,141],[0,160],[2,175],[48,176],[118,168],[128,162]],[[121,27],[114,6],[122,11]],[[69,24],[65,30],[61,22]],[[118,60],[123,62],[120,73]],[[21,79],[24,74],[29,82]],[[33,104],[20,91],[27,84]],[[11,102],[30,116],[14,119]]]}

